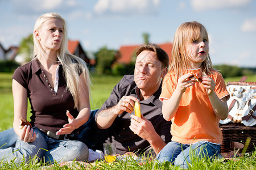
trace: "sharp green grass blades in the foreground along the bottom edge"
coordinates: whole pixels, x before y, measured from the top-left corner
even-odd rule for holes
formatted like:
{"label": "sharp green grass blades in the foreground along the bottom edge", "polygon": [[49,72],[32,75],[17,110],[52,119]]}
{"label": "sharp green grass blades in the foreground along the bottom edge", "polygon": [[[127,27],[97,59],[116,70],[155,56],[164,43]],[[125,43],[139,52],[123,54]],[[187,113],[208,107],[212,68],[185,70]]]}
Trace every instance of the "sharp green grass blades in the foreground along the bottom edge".
{"label": "sharp green grass blades in the foreground along the bottom edge", "polygon": [[[189,165],[189,169],[250,169],[254,170],[256,164],[256,152],[251,154],[235,157],[231,160],[228,159],[214,159],[210,161],[207,158],[194,158]],[[4,163],[0,161],[1,169],[181,169],[170,164],[170,162],[159,163],[152,156],[147,156],[144,159],[137,162],[132,156],[128,156],[123,160],[116,160],[115,162],[108,164],[104,160],[97,160],[92,164],[82,162],[69,162],[68,164],[58,164],[48,166],[42,162],[36,162],[36,159],[32,159],[28,163]]]}

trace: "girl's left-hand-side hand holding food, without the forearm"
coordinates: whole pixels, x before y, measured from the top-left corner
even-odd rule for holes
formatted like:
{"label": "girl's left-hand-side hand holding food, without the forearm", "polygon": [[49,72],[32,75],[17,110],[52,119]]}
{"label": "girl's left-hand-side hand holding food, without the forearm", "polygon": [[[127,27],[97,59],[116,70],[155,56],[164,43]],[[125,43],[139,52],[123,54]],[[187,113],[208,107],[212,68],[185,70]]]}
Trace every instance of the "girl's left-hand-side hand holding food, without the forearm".
{"label": "girl's left-hand-side hand holding food, without the forearm", "polygon": [[188,73],[181,76],[178,79],[176,90],[181,91],[183,94],[188,87],[193,86],[193,84],[195,84],[194,80],[189,79],[192,75],[192,73]]}

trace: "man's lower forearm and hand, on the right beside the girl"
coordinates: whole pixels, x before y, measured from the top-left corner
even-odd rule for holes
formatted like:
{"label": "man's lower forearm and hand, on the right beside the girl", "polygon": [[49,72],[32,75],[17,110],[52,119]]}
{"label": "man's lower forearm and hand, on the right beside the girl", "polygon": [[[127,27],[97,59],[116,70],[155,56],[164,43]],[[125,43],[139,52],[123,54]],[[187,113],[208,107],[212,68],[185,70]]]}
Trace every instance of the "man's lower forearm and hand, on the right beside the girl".
{"label": "man's lower forearm and hand, on the right beside the girl", "polygon": [[131,115],[131,125],[130,129],[139,137],[146,139],[148,143],[150,143],[151,147],[155,151],[156,154],[162,150],[166,143],[163,139],[156,133],[154,126],[148,121],[146,118],[138,117],[135,115]]}

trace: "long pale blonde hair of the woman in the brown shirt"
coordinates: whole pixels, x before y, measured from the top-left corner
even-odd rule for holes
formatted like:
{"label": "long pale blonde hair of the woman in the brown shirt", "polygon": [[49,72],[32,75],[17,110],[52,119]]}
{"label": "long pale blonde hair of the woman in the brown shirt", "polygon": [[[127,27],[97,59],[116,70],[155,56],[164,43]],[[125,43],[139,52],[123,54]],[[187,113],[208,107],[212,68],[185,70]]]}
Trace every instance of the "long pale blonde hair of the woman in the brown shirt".
{"label": "long pale blonde hair of the woman in the brown shirt", "polygon": [[[86,66],[84,60],[79,57],[74,56],[68,51],[68,33],[67,33],[67,25],[65,20],[61,18],[59,14],[49,12],[43,14],[36,20],[34,26],[35,30],[38,30],[42,27],[43,23],[46,22],[48,19],[55,18],[60,19],[63,22],[63,40],[61,42],[60,48],[57,50],[57,59],[63,66],[63,74],[65,80],[67,82],[67,90],[69,90],[73,96],[75,102],[75,108],[79,107],[79,84],[81,84],[80,74],[84,76],[86,87],[90,96],[90,77],[89,77],[89,70]],[[36,38],[35,34],[33,34],[34,40],[34,56],[36,59],[38,54],[45,54],[46,52],[42,48],[39,40]]]}

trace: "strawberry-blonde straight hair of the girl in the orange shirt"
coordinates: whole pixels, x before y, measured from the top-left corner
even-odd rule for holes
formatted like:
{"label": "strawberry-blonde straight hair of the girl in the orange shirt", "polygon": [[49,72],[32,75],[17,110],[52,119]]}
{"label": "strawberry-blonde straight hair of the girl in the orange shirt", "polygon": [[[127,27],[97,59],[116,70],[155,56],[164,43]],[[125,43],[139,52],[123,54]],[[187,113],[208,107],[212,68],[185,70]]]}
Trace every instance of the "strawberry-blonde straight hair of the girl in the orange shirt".
{"label": "strawberry-blonde straight hair of the girl in the orange shirt", "polygon": [[[199,22],[185,22],[181,24],[174,35],[174,42],[172,46],[171,60],[169,70],[173,71],[175,74],[175,79],[180,78],[181,75],[187,74],[189,70],[191,70],[191,66],[189,64],[189,56],[186,50],[186,43],[191,43],[205,33],[207,35],[208,41],[208,33],[203,24]],[[209,53],[205,61],[202,62],[201,71],[206,73],[207,75],[211,74],[211,70],[213,69],[212,61],[210,60]]]}

